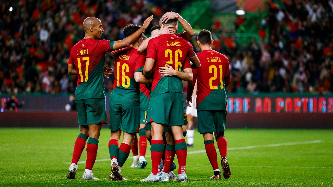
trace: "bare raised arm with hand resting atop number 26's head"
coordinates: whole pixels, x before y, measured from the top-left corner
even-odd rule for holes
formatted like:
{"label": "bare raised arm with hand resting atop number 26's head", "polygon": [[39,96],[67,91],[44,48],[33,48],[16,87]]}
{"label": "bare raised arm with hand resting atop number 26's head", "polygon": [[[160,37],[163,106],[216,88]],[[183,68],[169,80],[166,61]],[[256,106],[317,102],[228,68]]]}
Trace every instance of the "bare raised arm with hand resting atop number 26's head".
{"label": "bare raised arm with hand resting atop number 26's head", "polygon": [[185,40],[190,40],[194,36],[194,30],[192,29],[191,25],[182,18],[178,13],[176,12],[166,12],[162,16],[162,23],[167,23],[169,19],[177,19],[179,21],[179,24],[184,28],[185,32],[181,34],[181,37]]}

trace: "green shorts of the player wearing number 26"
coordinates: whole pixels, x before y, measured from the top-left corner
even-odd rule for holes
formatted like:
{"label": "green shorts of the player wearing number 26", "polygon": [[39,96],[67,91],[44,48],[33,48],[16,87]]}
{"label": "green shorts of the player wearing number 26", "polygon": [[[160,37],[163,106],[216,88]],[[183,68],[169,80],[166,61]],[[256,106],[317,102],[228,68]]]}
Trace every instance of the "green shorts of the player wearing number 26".
{"label": "green shorts of the player wearing number 26", "polygon": [[184,124],[183,116],[183,94],[178,92],[167,92],[151,97],[149,101],[147,120],[169,126],[180,126]]}

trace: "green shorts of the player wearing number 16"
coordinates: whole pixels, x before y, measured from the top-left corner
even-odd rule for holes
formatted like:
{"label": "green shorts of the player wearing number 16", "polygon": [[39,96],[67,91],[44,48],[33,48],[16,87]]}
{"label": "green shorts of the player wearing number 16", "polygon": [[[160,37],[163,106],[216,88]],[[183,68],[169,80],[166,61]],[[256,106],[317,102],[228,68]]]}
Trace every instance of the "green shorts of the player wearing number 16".
{"label": "green shorts of the player wearing number 16", "polygon": [[127,133],[134,133],[140,127],[140,106],[125,104],[109,104],[110,129],[121,129]]}

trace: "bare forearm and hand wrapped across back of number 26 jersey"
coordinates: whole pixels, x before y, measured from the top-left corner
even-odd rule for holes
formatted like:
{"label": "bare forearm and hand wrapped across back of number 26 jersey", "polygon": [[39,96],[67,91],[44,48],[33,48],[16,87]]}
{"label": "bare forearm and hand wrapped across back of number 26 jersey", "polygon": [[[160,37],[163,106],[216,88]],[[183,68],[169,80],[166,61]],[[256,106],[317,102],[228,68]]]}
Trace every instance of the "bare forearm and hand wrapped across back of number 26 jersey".
{"label": "bare forearm and hand wrapped across back of number 26 jersey", "polygon": [[184,69],[184,72],[178,72],[169,65],[166,65],[166,67],[160,67],[159,73],[161,74],[161,76],[175,76],[187,82],[193,81],[193,73],[191,68]]}

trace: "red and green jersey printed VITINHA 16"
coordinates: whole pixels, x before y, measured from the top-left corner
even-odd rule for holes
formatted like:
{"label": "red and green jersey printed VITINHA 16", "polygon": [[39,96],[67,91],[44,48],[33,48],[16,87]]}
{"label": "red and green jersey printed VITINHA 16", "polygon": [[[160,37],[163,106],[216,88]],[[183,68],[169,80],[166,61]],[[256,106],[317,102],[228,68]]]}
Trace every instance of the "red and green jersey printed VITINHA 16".
{"label": "red and green jersey printed VITINHA 16", "polygon": [[110,95],[110,104],[140,104],[140,84],[134,79],[134,73],[143,71],[146,57],[133,47],[118,50],[115,60],[115,81]]}

